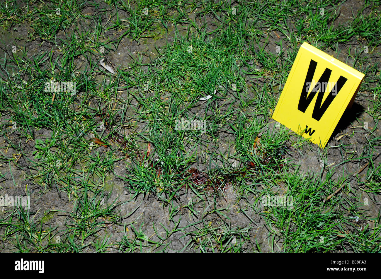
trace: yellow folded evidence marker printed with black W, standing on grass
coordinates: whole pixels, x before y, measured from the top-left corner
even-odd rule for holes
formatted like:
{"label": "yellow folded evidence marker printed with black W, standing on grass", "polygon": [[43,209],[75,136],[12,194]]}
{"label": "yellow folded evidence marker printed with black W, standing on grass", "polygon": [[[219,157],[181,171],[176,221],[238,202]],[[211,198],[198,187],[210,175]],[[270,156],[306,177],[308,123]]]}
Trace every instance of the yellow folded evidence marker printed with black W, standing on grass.
{"label": "yellow folded evidence marker printed with black W, standing on grass", "polygon": [[363,78],[363,73],[304,42],[272,118],[324,148]]}

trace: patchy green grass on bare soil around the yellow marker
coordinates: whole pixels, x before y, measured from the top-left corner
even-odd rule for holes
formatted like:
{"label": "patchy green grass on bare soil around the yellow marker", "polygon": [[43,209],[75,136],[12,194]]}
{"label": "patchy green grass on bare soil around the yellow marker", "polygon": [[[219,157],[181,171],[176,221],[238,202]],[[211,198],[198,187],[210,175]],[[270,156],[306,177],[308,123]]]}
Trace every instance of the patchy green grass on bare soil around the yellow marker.
{"label": "patchy green grass on bare soil around the yellow marker", "polygon": [[[2,32],[21,34],[16,53],[4,43],[0,59],[0,167],[6,169],[0,193],[25,182],[26,195],[49,202],[46,195],[56,193],[66,202],[57,206],[60,210],[6,208],[0,215],[2,250],[168,251],[178,240],[178,250],[197,252],[380,251],[379,215],[369,217],[371,208],[360,198],[381,191],[380,167],[374,161],[380,148],[379,4],[366,2],[342,22],[339,10],[346,4],[339,1],[44,3],[0,4]],[[30,29],[27,38],[24,27]],[[158,38],[166,44],[156,45]],[[136,48],[141,53],[134,56],[129,49],[125,57],[134,59],[128,66],[115,65],[115,75],[99,66],[101,59],[134,41],[145,42],[151,53]],[[376,125],[367,130],[360,151],[343,141],[319,150],[271,125],[303,41],[343,54],[365,74],[356,100],[366,104],[367,121]],[[33,55],[27,51],[30,44],[39,49]],[[77,92],[46,92],[51,80],[75,82]],[[200,102],[207,95],[211,98]],[[207,126],[205,131],[176,130],[181,119],[205,120]],[[126,145],[92,143],[90,133],[107,142],[101,121],[123,134]],[[363,119],[358,122],[364,125]],[[349,137],[355,138],[357,130]],[[259,132],[261,155],[256,155]],[[274,157],[285,145],[296,154],[317,152],[324,163],[321,172],[298,170],[295,162],[280,169],[279,161],[261,159],[264,154]],[[333,165],[331,152],[337,153]],[[152,159],[163,175],[149,167]],[[211,179],[245,171],[245,166],[232,165],[234,160],[259,166],[250,182],[235,181],[234,208],[218,207],[224,193],[210,195],[182,180],[196,163]],[[368,162],[361,174],[344,171]],[[127,200],[115,198],[123,193],[108,184],[115,177],[130,194]],[[184,185],[191,194],[179,202]],[[338,195],[323,202],[339,187]],[[140,194],[168,210],[168,220],[142,221]],[[266,195],[291,197],[293,208],[264,206]],[[239,214],[249,222],[234,225]],[[57,220],[62,224],[52,226]],[[266,233],[261,231],[265,227]]]}

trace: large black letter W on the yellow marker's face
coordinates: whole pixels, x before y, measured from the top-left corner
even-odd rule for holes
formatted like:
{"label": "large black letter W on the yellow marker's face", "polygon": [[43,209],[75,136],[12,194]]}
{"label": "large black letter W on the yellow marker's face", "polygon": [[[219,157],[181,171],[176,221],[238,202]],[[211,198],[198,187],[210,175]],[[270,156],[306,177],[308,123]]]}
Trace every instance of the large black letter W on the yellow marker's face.
{"label": "large black letter W on the yellow marker's face", "polygon": [[[312,99],[314,99],[316,92],[319,90],[319,94],[317,95],[317,99],[315,102],[314,111],[312,112],[312,118],[319,121],[320,118],[322,118],[325,111],[327,110],[327,108],[329,107],[329,105],[331,104],[331,102],[333,101],[333,99],[335,99],[340,89],[343,87],[344,83],[347,81],[347,78],[344,78],[343,76],[339,77],[339,80],[336,82],[335,86],[333,86],[330,94],[328,95],[327,99],[325,99],[322,105],[324,91],[322,91],[322,86],[320,86],[320,84],[328,83],[332,70],[325,68],[325,71],[323,72],[323,75],[320,77],[319,82],[315,85],[314,89],[307,97],[307,82],[310,82],[310,84],[312,84],[312,78],[314,77],[316,65],[317,62],[311,59],[306,75],[306,80],[304,81],[302,94],[300,95],[298,110],[300,110],[301,112],[306,112],[307,107],[309,106],[309,104],[311,104]],[[334,95],[333,91],[335,91],[335,89],[337,89],[337,91]]]}

